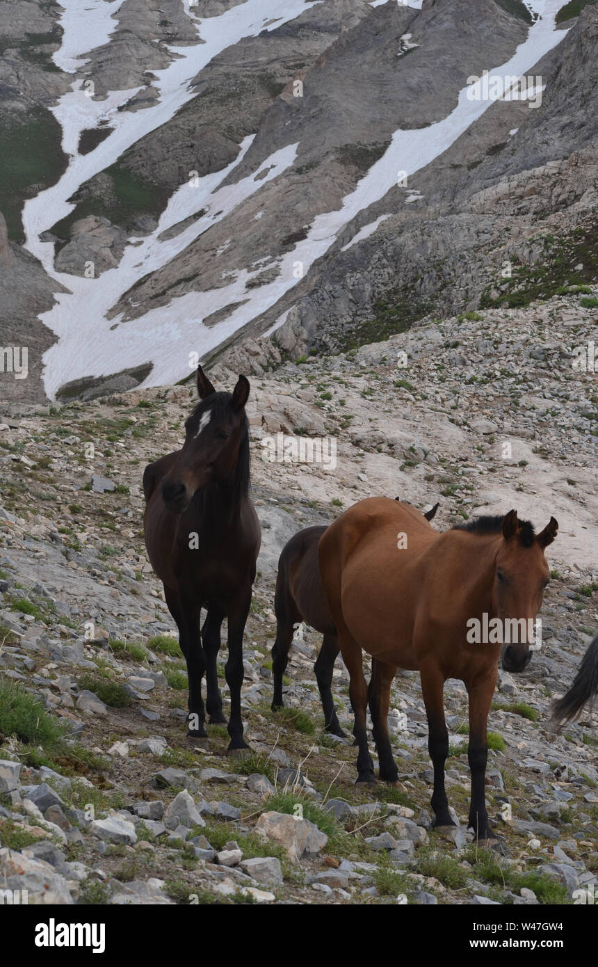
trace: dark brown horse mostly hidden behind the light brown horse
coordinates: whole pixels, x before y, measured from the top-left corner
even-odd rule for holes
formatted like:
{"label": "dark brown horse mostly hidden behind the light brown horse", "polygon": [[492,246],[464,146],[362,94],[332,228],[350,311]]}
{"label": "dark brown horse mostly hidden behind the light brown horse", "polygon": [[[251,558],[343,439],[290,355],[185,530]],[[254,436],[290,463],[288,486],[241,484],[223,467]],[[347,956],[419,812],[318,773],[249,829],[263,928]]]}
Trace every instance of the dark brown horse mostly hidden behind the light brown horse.
{"label": "dark brown horse mostly hidden behind the light brown horse", "polygon": [[[395,500],[398,500],[395,497]],[[431,511],[424,513],[426,520],[432,520],[438,511],[436,504]],[[272,646],[272,676],[274,695],[272,711],[281,709],[282,676],[289,660],[289,650],[295,634],[304,621],[324,635],[320,654],[316,659],[314,671],[324,709],[327,732],[344,737],[332,698],[332,670],[340,651],[338,635],[330,613],[326,594],[320,577],[318,563],[318,543],[327,525],[306,527],[285,544],[278,559],[276,591],[274,594],[274,613],[276,615],[276,640]],[[374,667],[372,664],[372,674]]]}

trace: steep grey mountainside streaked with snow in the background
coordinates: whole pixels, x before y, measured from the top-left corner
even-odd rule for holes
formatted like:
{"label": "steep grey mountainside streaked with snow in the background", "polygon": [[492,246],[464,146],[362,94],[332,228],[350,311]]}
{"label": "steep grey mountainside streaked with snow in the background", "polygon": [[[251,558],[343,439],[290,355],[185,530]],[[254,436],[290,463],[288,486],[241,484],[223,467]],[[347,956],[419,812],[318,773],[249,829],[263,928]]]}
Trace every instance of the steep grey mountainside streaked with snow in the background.
{"label": "steep grey mountainside streaked with snow in the background", "polygon": [[[275,327],[294,358],[347,349],[596,280],[593,3],[0,18],[0,343],[30,350],[3,399],[172,383]],[[470,97],[484,72],[502,96]]]}

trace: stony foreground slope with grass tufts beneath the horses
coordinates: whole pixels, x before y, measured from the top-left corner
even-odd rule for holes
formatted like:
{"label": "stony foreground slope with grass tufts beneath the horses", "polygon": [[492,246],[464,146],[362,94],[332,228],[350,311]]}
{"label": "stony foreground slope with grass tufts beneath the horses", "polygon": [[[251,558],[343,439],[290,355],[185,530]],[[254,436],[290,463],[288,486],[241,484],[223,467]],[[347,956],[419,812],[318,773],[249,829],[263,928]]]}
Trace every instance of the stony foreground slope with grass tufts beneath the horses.
{"label": "stony foreground slope with grass tufts beneath the horses", "polygon": [[[256,373],[248,415],[264,537],[245,632],[246,759],[226,758],[222,726],[209,727],[207,747],[185,739],[185,664],[143,550],[143,467],[181,440],[190,387],[3,406],[5,888],[27,889],[30,903],[535,905],[573,902],[595,884],[595,715],[586,710],[562,735],[548,726],[598,627],[598,396],[594,372],[578,365],[596,290],[565,289],[527,308],[426,318],[333,356],[285,361],[271,339],[231,351]],[[230,388],[236,371],[222,362],[211,378]],[[335,459],[266,462],[279,433],[327,441]],[[542,648],[523,674],[499,673],[489,719],[497,852],[476,851],[466,830],[462,683],[445,688],[447,792],[459,824],[448,833],[431,829],[416,674],[400,673],[392,689],[396,787],[356,787],[351,741],[324,732],[320,636],[307,627],[291,652],[286,708],[271,712],[280,548],[372,494],[420,509],[440,500],[439,529],[511,507],[537,526],[551,514],[559,521]],[[221,687],[226,709],[223,677]],[[349,731],[340,660],[332,688]]]}

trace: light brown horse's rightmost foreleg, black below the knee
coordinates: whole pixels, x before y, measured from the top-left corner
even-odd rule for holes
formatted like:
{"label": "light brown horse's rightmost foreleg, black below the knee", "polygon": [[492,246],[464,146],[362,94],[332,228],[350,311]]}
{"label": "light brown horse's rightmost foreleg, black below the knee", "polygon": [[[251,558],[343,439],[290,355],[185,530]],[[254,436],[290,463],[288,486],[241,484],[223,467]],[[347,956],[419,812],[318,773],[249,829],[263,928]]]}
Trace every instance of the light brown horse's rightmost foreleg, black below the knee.
{"label": "light brown horse's rightmost foreleg, black below the knee", "polygon": [[466,687],[470,696],[470,747],[468,758],[471,773],[470,822],[477,839],[489,839],[495,834],[488,823],[486,809],[486,762],[488,760],[488,739],[486,725],[488,713],[497,684],[498,667],[496,662],[488,672],[478,675]]}

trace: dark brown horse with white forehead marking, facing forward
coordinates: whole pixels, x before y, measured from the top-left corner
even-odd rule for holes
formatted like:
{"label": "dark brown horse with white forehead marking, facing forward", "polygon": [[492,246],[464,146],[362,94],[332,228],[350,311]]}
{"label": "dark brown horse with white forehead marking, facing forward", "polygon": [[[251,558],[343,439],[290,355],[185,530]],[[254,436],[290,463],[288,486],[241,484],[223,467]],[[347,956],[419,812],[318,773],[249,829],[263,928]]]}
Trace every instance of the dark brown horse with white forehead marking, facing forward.
{"label": "dark brown horse with white forehead marking, facing forward", "polygon": [[[244,376],[233,393],[216,393],[197,368],[200,402],[185,422],[182,450],[150,463],[143,474],[145,543],[164,585],[185,655],[189,697],[187,735],[206,739],[201,683],[207,680],[211,722],[225,722],[216,656],[228,621],[225,675],[231,693],[228,751],[242,736],[242,637],[260,549],[260,523],[249,491],[249,429]],[[201,609],[208,611],[200,636]]]}

